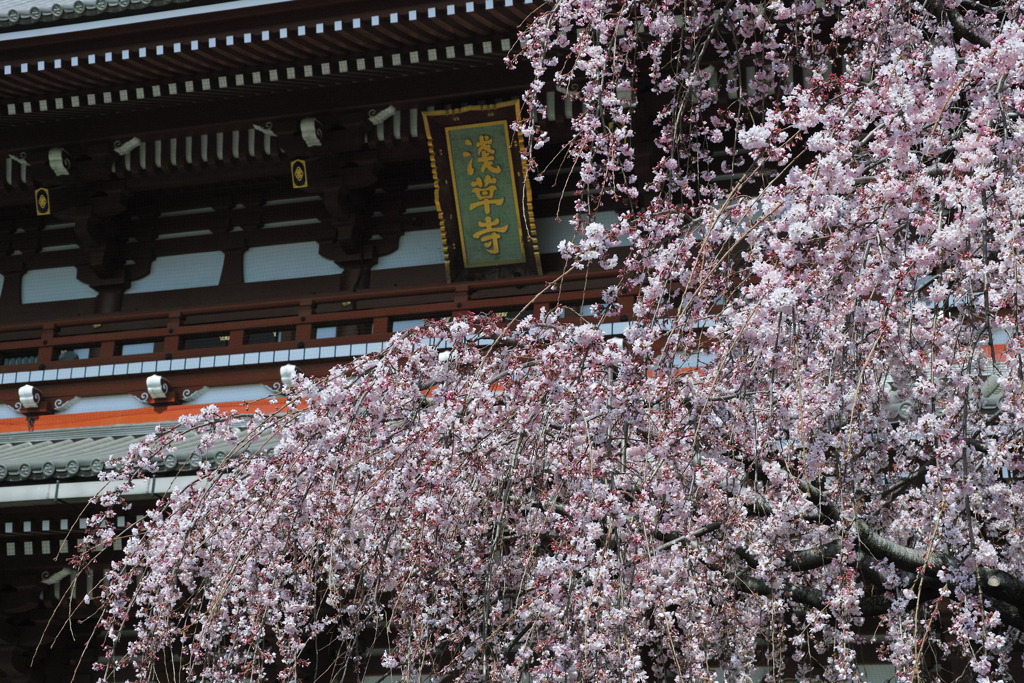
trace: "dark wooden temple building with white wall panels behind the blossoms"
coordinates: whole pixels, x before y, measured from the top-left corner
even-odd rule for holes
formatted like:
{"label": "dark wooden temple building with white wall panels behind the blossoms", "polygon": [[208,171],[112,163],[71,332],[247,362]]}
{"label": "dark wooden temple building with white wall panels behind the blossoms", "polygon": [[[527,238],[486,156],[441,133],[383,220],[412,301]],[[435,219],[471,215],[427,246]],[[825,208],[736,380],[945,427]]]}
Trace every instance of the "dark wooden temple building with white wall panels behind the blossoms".
{"label": "dark wooden temple building with white wall panels behind the blossoms", "polygon": [[[538,7],[0,0],[0,681],[92,676],[89,614],[33,655],[100,580],[65,559],[110,456],[425,318],[557,301],[565,178],[524,184],[509,127]],[[567,279],[581,315],[602,284]]]}

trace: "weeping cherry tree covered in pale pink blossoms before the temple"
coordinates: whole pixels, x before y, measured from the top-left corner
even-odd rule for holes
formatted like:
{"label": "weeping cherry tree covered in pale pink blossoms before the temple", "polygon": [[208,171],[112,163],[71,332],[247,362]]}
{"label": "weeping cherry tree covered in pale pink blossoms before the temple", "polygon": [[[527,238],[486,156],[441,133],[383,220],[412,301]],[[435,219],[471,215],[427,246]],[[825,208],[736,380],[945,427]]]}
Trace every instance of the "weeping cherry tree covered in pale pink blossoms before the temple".
{"label": "weeping cherry tree covered in pale pink blossoms before the temple", "polygon": [[1014,680],[1022,9],[551,3],[521,127],[540,168],[579,112],[624,339],[460,317],[300,382],[129,533],[100,675]]}

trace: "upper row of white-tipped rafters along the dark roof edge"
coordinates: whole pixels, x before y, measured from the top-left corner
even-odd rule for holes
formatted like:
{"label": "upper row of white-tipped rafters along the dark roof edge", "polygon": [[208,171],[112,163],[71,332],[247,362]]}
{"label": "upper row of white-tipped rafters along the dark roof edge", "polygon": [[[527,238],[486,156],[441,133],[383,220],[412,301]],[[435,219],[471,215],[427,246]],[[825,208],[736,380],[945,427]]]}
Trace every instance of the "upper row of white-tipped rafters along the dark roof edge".
{"label": "upper row of white-tipped rafters along the dark roof edge", "polygon": [[500,6],[467,11],[467,5],[450,7],[414,2],[382,12],[375,2],[301,0],[218,12],[202,23],[175,18],[82,31],[56,40],[0,40],[0,104],[487,39],[514,40],[537,6],[526,0],[494,4]]}

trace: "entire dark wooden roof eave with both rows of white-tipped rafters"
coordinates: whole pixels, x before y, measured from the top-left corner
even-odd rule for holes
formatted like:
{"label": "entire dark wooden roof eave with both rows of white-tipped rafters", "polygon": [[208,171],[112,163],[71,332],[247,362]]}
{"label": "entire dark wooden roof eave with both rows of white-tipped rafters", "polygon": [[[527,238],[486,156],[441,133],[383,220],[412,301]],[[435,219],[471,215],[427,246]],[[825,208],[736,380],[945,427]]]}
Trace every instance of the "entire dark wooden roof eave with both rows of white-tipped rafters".
{"label": "entire dark wooden roof eave with both rows of white-tipped rafters", "polygon": [[0,40],[0,157],[325,110],[515,96],[527,70],[509,72],[504,57],[538,6],[433,0],[381,12],[373,2],[296,0],[211,22]]}

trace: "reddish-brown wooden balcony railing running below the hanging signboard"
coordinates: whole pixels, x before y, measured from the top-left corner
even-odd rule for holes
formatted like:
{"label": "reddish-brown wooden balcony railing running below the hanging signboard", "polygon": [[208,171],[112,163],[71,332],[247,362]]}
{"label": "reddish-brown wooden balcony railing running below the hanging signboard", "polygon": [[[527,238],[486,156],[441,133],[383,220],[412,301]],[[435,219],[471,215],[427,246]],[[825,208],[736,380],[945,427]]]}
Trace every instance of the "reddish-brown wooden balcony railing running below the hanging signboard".
{"label": "reddish-brown wooden balcony railing running below the hanging signboard", "polygon": [[2,325],[0,371],[382,342],[403,324],[470,311],[511,316],[560,304],[587,317],[609,274],[570,272],[557,290],[546,275]]}

